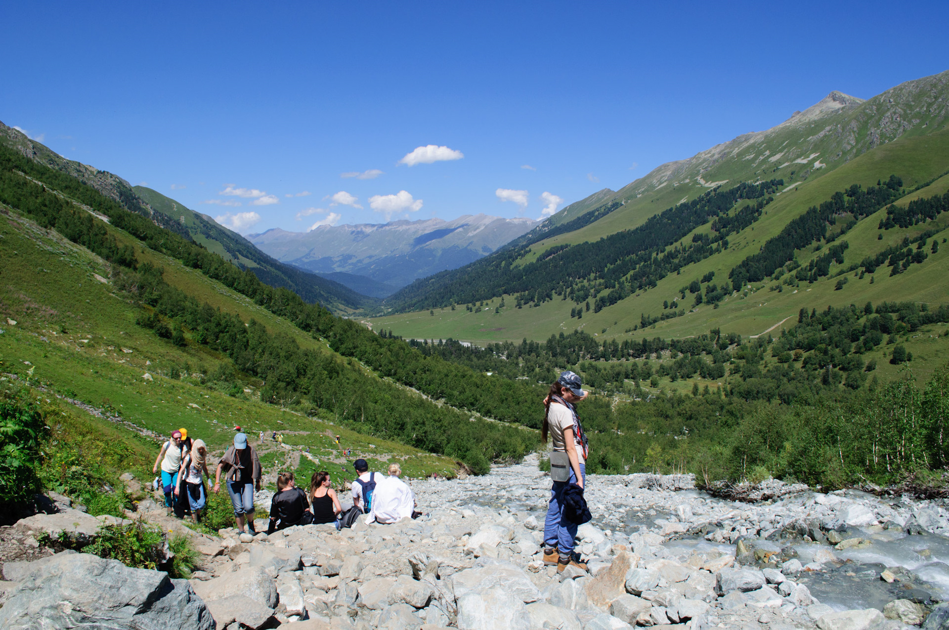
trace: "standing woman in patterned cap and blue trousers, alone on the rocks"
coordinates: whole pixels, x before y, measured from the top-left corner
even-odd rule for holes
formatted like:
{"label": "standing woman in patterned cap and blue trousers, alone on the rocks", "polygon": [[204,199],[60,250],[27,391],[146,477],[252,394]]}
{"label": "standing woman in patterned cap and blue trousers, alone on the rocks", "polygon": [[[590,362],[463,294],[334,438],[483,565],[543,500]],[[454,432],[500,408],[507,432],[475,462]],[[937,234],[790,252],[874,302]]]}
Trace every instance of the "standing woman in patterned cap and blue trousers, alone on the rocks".
{"label": "standing woman in patterned cap and blue trousers, alone on the rocks", "polygon": [[578,526],[564,518],[565,491],[570,484],[583,489],[586,481],[588,447],[576,410],[576,403],[586,398],[586,392],[580,386],[579,376],[573,372],[564,372],[550,385],[548,397],[544,400],[546,411],[541,437],[546,443],[549,433],[553,442],[551,476],[555,473],[555,461],[568,467],[568,471],[565,471],[567,480],[554,481],[550,488],[550,502],[544,522],[544,564],[557,565],[557,571],[563,571],[568,565],[586,570],[586,563],[580,562],[580,556],[573,552]]}

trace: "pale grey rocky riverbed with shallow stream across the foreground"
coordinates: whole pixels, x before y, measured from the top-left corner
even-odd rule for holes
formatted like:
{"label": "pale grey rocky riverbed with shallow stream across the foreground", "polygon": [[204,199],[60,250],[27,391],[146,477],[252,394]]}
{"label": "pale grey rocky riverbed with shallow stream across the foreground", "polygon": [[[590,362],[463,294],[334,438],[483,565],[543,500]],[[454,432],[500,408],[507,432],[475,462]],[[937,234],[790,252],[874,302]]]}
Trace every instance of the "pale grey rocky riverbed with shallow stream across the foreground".
{"label": "pale grey rocky riverbed with shallow stream across the foreground", "polygon": [[190,581],[40,553],[60,514],[24,519],[0,531],[32,550],[3,565],[0,627],[949,628],[942,501],[767,482],[769,500],[735,503],[689,475],[590,475],[589,571],[558,574],[540,551],[549,476],[535,458],[411,486],[415,521],[195,537]]}

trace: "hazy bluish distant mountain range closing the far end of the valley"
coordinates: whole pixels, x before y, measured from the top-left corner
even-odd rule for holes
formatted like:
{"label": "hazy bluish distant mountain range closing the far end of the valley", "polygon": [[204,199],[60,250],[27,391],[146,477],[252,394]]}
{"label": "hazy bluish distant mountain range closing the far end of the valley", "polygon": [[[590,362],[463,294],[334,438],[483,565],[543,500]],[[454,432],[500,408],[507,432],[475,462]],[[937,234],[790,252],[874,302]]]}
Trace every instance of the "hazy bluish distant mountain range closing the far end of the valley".
{"label": "hazy bluish distant mountain range closing the far end of the valley", "polygon": [[528,218],[466,214],[453,221],[320,226],[310,232],[275,228],[248,240],[281,262],[384,297],[418,278],[474,262],[536,225]]}

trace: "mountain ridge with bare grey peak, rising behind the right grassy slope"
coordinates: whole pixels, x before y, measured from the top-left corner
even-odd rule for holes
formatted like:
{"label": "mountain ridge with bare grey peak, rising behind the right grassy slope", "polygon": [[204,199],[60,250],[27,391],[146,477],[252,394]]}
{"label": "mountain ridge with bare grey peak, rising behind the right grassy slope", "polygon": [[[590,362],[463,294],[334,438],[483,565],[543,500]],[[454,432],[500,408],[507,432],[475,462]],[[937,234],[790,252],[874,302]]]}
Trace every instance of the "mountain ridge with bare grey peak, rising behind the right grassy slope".
{"label": "mountain ridge with bare grey peak, rising behind the right grassy slope", "polygon": [[[656,243],[647,245],[641,241],[623,240],[618,234],[636,232],[647,222],[652,222],[650,229],[656,229],[657,216],[663,211],[669,218],[675,218],[674,209],[696,203],[699,198],[709,195],[710,190],[720,194],[743,185],[781,181],[769,195],[781,197],[782,213],[805,213],[808,204],[812,203],[809,195],[803,194],[805,190],[821,189],[820,182],[838,169],[879,152],[895,140],[939,134],[949,116],[947,96],[949,72],[902,83],[869,101],[833,92],[804,112],[795,112],[789,120],[772,129],[746,134],[695,157],[664,164],[615,195],[603,196],[603,192],[592,195],[590,198],[596,198],[599,203],[588,210],[583,207],[584,213],[580,216],[569,217],[569,220],[565,216],[556,222],[551,218],[508,248],[468,267],[419,280],[388,298],[386,304],[397,312],[411,311],[513,294],[519,294],[520,302],[533,302],[533,294],[526,292],[529,288],[540,289],[535,284],[540,275],[544,275],[544,290],[538,290],[538,294],[543,301],[548,289],[560,294],[558,289],[576,285],[583,277],[578,275],[580,269],[556,264],[554,261],[558,258],[582,257],[586,251],[595,249],[600,265],[598,271],[603,272],[605,266],[616,265],[621,258],[645,256],[646,250],[655,249]],[[926,151],[924,144],[918,145],[919,151]],[[884,180],[893,173],[913,176],[912,171],[919,166],[914,158],[909,157],[904,168],[883,174]],[[937,173],[947,166],[949,164],[941,164]],[[849,170],[853,172],[853,169]],[[863,180],[863,175],[852,177],[836,190],[843,193],[842,189],[846,190],[854,182],[866,187],[869,182]],[[914,178],[911,185],[915,186],[925,178]],[[836,180],[840,183],[839,177]],[[583,206],[583,202],[578,203]],[[789,205],[793,208],[788,208]],[[723,208],[720,212],[727,213],[728,210]],[[733,213],[742,210],[735,208]],[[713,218],[706,216],[704,222],[711,222]],[[702,223],[691,224],[690,228]],[[711,232],[709,236],[713,237],[722,224],[719,220],[711,225],[711,231],[703,232]],[[742,225],[735,232],[748,227]],[[688,234],[690,230],[683,225],[680,232]],[[663,236],[665,243],[662,247],[671,247],[677,240],[673,232],[664,232]],[[684,247],[685,244],[680,245]],[[604,249],[610,250],[606,258],[600,255],[600,250]],[[540,264],[545,261],[549,262]],[[642,265],[643,261],[637,262]],[[616,272],[621,271],[628,272],[629,269],[619,265]],[[531,276],[531,273],[535,275]],[[605,286],[591,285],[590,288],[604,290]]]}

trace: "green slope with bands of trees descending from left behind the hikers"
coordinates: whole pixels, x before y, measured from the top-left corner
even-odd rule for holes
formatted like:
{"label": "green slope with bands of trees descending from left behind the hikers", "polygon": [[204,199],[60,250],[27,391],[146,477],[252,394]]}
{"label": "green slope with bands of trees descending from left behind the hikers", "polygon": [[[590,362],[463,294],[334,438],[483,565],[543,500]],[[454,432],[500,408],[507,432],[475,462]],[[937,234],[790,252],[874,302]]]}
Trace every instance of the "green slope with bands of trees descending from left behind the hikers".
{"label": "green slope with bands of trees descending from left behind the hikers", "polygon": [[[325,449],[322,435],[342,425],[363,434],[349,434],[363,448],[411,451],[386,441],[396,440],[477,472],[536,441],[382,378],[350,358],[378,339],[363,326],[4,147],[0,285],[5,370],[114,406],[142,430],[167,435],[185,420],[206,423],[217,445],[234,424],[251,433],[289,429]],[[400,365],[412,357],[405,349]],[[445,459],[431,461],[451,470]]]}

